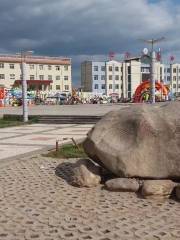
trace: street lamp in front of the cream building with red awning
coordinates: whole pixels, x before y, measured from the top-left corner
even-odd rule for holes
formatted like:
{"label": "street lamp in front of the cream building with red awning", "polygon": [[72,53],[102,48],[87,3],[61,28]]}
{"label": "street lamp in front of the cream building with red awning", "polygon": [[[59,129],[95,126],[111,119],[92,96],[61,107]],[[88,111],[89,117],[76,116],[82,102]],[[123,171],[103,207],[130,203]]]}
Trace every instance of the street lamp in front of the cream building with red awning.
{"label": "street lamp in front of the cream building with red awning", "polygon": [[28,122],[26,57],[33,53],[33,51],[21,51],[19,54],[21,56],[23,122]]}

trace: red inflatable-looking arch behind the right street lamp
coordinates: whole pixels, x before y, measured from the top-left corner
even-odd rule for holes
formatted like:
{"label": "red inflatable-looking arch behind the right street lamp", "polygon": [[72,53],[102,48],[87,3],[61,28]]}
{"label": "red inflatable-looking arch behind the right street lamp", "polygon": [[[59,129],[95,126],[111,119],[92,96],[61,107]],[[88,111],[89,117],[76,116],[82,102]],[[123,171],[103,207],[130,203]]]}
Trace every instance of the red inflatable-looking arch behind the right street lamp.
{"label": "red inflatable-looking arch behind the right street lamp", "polygon": [[[168,95],[169,89],[167,86],[162,84],[161,82],[156,82],[155,84],[156,90],[161,91],[164,96]],[[144,81],[142,82],[136,89],[134,94],[134,102],[142,102],[142,95],[145,92],[150,92],[151,83],[150,81]]]}

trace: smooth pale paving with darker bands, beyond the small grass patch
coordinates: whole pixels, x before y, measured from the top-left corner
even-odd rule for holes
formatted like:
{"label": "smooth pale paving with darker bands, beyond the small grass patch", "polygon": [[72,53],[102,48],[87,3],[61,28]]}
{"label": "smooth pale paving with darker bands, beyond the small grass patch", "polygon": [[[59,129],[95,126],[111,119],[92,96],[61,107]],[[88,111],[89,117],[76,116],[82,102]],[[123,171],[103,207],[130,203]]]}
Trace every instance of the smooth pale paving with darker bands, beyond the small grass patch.
{"label": "smooth pale paving with darker bands, beyond the small grass patch", "polygon": [[0,128],[0,161],[20,154],[55,148],[59,144],[82,139],[92,125],[76,124],[32,124],[19,127]]}

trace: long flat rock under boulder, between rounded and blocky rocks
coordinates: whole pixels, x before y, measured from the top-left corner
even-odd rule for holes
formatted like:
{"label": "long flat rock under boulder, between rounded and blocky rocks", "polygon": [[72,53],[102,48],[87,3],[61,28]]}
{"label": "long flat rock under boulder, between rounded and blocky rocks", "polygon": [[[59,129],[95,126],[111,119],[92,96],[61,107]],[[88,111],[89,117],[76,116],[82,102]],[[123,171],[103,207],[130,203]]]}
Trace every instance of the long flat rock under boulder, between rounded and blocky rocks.
{"label": "long flat rock under boulder, between rounded and blocky rocks", "polygon": [[105,186],[110,191],[137,192],[139,183],[135,179],[115,178],[107,181]]}

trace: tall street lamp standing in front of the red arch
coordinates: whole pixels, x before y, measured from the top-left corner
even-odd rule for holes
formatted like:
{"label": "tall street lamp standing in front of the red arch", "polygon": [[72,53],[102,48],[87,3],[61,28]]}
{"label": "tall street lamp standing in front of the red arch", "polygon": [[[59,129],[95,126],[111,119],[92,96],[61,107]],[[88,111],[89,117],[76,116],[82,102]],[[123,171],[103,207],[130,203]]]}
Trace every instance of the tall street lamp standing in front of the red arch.
{"label": "tall street lamp standing in front of the red arch", "polygon": [[163,41],[165,38],[161,37],[158,39],[150,39],[150,40],[144,40],[141,41],[151,44],[151,103],[156,102],[155,98],[155,89],[156,89],[156,79],[155,79],[155,63],[156,63],[156,52],[154,51],[154,44]]}

